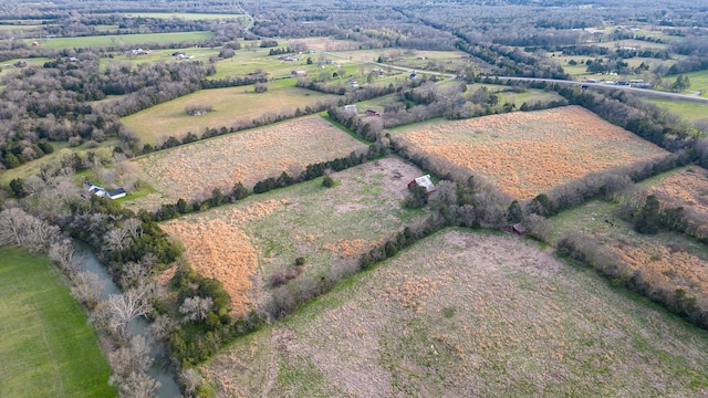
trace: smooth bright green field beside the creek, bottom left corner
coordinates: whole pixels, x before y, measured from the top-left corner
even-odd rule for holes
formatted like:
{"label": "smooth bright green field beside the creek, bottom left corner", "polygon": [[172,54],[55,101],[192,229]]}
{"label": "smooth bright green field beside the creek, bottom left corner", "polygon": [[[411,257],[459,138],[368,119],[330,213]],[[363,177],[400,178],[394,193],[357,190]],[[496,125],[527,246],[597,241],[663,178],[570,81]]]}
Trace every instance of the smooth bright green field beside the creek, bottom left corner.
{"label": "smooth bright green field beside the creek, bottom left corner", "polygon": [[84,310],[46,258],[0,248],[3,397],[115,397]]}

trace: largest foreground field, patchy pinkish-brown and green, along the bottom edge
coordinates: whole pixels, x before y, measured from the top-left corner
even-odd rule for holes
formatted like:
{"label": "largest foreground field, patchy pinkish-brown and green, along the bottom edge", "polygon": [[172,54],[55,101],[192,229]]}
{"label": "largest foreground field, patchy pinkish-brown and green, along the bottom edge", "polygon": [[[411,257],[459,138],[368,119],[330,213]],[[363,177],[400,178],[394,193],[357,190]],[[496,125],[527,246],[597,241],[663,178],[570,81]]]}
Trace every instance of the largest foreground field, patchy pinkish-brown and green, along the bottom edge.
{"label": "largest foreground field, patchy pinkish-brown and green, along the bottom edge", "polygon": [[705,396],[708,335],[509,234],[446,230],[200,366],[217,396]]}

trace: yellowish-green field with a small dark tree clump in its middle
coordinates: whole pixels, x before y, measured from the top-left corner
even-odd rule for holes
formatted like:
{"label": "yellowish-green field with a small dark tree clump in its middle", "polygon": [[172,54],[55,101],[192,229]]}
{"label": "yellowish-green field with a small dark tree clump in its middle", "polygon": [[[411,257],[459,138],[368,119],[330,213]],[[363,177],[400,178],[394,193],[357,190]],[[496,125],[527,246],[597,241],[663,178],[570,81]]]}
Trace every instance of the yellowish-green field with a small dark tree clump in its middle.
{"label": "yellowish-green field with a small dark tree clump in its middle", "polygon": [[[201,136],[207,127],[231,127],[236,121],[257,118],[267,113],[314,105],[334,97],[305,88],[269,83],[267,93],[253,92],[253,86],[202,90],[122,118],[143,143],[156,144],[168,136],[181,137],[187,133]],[[214,111],[202,116],[190,116],[188,105],[211,105]]]}

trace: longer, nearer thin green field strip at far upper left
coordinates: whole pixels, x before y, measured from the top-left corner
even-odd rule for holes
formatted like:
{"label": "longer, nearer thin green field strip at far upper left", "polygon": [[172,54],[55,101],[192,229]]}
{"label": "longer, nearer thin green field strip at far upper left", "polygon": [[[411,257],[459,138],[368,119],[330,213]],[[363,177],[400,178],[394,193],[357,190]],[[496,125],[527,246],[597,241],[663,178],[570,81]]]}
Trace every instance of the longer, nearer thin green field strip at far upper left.
{"label": "longer, nearer thin green field strip at far upper left", "polygon": [[[140,33],[140,34],[107,34],[83,38],[53,38],[39,41],[45,49],[81,49],[106,48],[126,44],[149,43],[181,43],[187,41],[200,41],[214,36],[214,32],[177,32],[177,33]],[[28,44],[34,40],[28,40]]]}

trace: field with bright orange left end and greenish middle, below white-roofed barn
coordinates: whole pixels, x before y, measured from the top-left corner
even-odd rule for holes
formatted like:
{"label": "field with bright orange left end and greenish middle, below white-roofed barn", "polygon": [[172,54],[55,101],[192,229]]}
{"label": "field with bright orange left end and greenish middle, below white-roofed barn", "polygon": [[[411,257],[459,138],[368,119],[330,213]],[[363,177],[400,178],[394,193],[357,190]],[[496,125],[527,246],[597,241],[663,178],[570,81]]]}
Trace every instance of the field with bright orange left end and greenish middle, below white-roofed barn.
{"label": "field with bright orange left end and greenish middle, below white-roofed barn", "polygon": [[235,314],[258,305],[270,275],[305,259],[301,277],[353,266],[373,243],[421,218],[402,209],[407,182],[420,170],[385,158],[321,179],[247,198],[232,206],[183,217],[162,226],[185,245],[185,256],[201,274],[219,279]]}

